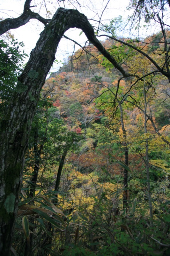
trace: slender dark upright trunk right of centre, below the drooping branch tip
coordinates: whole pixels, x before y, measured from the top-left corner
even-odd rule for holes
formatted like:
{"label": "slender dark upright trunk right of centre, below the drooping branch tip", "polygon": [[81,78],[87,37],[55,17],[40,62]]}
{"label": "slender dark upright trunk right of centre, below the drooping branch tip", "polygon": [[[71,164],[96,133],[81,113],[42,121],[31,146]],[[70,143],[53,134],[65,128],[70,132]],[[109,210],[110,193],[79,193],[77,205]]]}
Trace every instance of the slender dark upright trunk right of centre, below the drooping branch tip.
{"label": "slender dark upright trunk right of centre, below the drooping branch tip", "polygon": [[[127,147],[127,142],[126,142],[126,130],[124,127],[124,121],[123,121],[123,110],[122,110],[122,105],[121,103],[119,104],[119,109],[121,113],[121,126],[122,126],[122,132],[123,132],[123,147],[124,147],[124,162],[128,166],[129,164],[129,151]],[[128,206],[128,171],[124,169],[123,171],[123,208]]]}

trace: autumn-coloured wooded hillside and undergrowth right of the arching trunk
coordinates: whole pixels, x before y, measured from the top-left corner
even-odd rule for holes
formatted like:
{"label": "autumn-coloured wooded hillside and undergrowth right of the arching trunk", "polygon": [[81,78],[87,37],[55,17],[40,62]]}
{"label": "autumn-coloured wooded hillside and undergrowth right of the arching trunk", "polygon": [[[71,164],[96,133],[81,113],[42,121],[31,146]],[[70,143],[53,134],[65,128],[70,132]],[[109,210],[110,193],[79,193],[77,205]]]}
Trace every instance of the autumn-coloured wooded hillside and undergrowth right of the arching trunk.
{"label": "autumn-coloured wooded hillside and undergrowth right of the arching trunk", "polygon": [[[103,44],[119,52],[128,72],[148,72],[141,56],[127,58],[111,39]],[[161,52],[161,44],[154,51]],[[26,246],[36,255],[169,253],[169,83],[154,73],[133,86],[119,78],[90,44],[42,88],[17,220],[17,230],[23,226],[26,233],[21,219],[27,215]],[[21,253],[20,232],[13,246]]]}

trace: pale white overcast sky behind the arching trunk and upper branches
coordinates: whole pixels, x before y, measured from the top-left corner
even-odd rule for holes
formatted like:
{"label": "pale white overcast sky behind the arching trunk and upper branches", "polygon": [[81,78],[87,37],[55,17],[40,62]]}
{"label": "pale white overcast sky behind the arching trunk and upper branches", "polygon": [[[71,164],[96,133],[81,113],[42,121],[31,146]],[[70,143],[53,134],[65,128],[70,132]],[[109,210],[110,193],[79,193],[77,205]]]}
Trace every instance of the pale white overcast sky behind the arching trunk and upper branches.
{"label": "pale white overcast sky behind the arching trunk and upper branches", "polygon": [[[74,1],[74,0],[73,0]],[[23,12],[24,7],[24,0],[1,0],[0,1],[0,17],[4,18],[16,18]],[[76,2],[76,0],[75,0]],[[63,3],[65,3],[66,8],[77,8],[78,11],[84,13],[92,25],[95,25],[94,20],[99,20],[103,9],[106,7],[106,4],[108,0],[79,0],[78,1],[81,4],[81,7],[78,4],[69,4],[68,0],[61,2],[61,7],[63,6]],[[44,5],[44,0],[41,0],[41,3],[38,0],[33,0],[31,5],[36,5],[37,7],[32,8],[32,11],[34,12],[40,12],[40,14],[47,18],[47,12],[46,8],[49,11],[48,15],[49,18],[52,17],[52,15],[55,13],[59,5],[57,4],[56,0],[48,1],[46,0],[46,8]],[[105,11],[102,14],[102,20],[109,20],[112,18],[115,18],[119,15],[122,15],[123,17],[128,16],[128,12],[126,10],[126,7],[129,3],[129,0],[110,0],[108,3]],[[83,7],[83,5],[85,7]],[[41,8],[40,8],[41,7]],[[93,10],[93,11],[91,11]],[[93,20],[91,20],[93,19]],[[107,21],[103,21],[107,22]],[[97,24],[97,23],[96,23]],[[37,20],[31,20],[26,25],[17,28],[12,29],[11,33],[14,34],[14,37],[18,39],[18,41],[23,41],[25,44],[24,50],[27,54],[31,52],[31,50],[35,47],[35,44],[40,36],[41,31],[43,30],[44,26]],[[78,43],[83,45],[83,42],[86,41],[86,37],[84,33],[82,33],[81,36],[79,36],[81,30],[80,29],[69,29],[65,35],[69,36],[70,38],[78,41]],[[56,53],[56,59],[57,60],[64,60],[64,58],[67,58],[68,53],[71,54],[73,51],[73,44],[67,42],[68,40],[62,39],[59,48]],[[79,47],[76,46],[76,49]],[[54,65],[52,68],[53,71],[56,71],[58,66]]]}

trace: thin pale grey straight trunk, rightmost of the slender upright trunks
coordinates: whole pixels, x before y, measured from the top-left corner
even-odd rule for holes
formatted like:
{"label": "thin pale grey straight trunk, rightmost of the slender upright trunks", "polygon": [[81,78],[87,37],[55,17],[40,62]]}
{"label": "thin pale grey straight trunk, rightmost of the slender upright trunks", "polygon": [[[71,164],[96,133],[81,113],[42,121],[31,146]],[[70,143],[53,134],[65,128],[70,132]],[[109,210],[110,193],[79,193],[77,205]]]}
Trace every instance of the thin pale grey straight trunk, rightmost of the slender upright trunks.
{"label": "thin pale grey straight trunk, rightmost of the slender upright trunks", "polygon": [[146,91],[145,91],[145,85],[144,85],[144,131],[146,135],[146,150],[145,150],[145,165],[146,165],[146,177],[147,177],[147,189],[148,189],[148,202],[149,202],[149,212],[150,212],[150,218],[151,218],[151,225],[153,221],[153,210],[152,210],[152,198],[151,198],[151,185],[150,185],[150,175],[149,175],[149,156],[148,156],[148,138],[147,138],[147,101],[146,101]]}

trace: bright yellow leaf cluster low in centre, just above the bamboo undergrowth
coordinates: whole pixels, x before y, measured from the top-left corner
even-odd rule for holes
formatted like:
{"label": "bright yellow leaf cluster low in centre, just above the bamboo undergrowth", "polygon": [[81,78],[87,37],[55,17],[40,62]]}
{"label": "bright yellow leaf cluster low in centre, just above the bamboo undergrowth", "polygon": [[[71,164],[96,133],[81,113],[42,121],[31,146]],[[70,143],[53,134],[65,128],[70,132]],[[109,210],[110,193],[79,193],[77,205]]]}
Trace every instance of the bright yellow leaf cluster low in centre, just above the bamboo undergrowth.
{"label": "bright yellow leaf cluster low in centre, just above the bamboo undergrowth", "polygon": [[101,195],[104,195],[104,204],[107,200],[112,202],[115,195],[117,199],[122,198],[122,186],[112,182],[98,182],[100,177],[96,172],[85,174],[74,171],[69,176],[69,193],[67,196],[58,195],[58,202],[69,212],[70,217],[80,213],[80,216],[83,214],[88,219],[89,214],[95,211],[96,202],[102,200]]}

